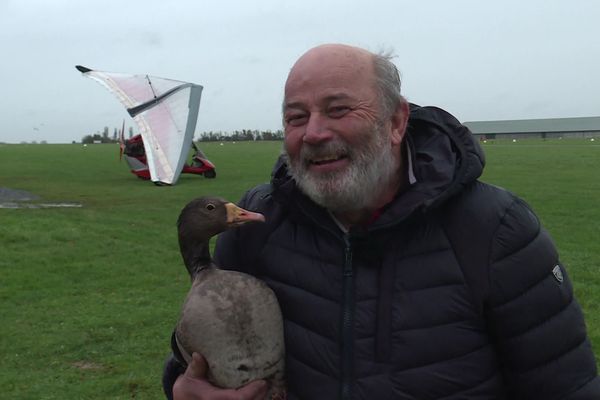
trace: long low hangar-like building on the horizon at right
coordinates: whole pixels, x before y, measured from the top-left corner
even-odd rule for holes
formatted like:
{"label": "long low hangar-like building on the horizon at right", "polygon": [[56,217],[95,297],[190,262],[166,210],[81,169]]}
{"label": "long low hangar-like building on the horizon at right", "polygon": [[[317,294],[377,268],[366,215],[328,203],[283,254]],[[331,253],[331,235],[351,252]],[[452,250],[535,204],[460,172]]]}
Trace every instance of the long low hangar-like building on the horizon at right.
{"label": "long low hangar-like building on the horizon at right", "polygon": [[600,137],[600,117],[464,122],[481,139]]}

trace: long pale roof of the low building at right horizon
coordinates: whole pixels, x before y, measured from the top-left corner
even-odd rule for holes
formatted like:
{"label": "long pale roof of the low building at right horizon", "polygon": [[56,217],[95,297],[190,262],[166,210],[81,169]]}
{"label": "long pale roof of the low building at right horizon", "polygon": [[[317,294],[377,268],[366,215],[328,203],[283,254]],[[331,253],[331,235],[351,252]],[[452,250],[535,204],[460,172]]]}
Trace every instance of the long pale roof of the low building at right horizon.
{"label": "long pale roof of the low building at right horizon", "polygon": [[474,134],[600,132],[600,117],[469,121],[463,124]]}

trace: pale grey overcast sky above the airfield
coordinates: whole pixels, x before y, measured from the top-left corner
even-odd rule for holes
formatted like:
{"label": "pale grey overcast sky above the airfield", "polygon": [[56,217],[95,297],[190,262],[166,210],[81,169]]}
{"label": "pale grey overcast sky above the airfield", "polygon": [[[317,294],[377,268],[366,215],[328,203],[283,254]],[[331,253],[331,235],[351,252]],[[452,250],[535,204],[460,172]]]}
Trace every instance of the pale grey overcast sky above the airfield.
{"label": "pale grey overcast sky above the airfield", "polygon": [[600,115],[595,0],[0,0],[0,142],[133,125],[74,66],[204,86],[196,132],[280,128],[293,62],[393,50],[404,95],[462,121]]}

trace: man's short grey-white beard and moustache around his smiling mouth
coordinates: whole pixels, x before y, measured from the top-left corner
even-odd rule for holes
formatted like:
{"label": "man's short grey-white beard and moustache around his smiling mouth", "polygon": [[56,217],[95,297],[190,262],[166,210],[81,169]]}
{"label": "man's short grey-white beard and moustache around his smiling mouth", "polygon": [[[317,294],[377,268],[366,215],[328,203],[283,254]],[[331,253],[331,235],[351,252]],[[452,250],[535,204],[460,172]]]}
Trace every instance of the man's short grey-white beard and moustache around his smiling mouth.
{"label": "man's short grey-white beard and moustache around his smiling mouth", "polygon": [[[309,160],[322,155],[345,154],[348,168],[313,174]],[[341,139],[321,145],[304,143],[300,156],[291,159],[285,153],[290,173],[298,187],[315,203],[335,212],[373,208],[389,185],[398,179],[399,163],[390,139],[379,126],[365,132],[365,140],[350,147]]]}

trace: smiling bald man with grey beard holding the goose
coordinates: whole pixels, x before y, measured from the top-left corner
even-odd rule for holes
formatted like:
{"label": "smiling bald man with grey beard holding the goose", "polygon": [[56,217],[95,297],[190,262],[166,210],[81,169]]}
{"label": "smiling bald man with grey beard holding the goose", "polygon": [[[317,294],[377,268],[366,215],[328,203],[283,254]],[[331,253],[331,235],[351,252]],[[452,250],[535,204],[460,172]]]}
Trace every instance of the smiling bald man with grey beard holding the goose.
{"label": "smiling bald man with grey beard holding the goose", "polygon": [[[283,162],[240,203],[272,222],[221,235],[216,258],[277,294],[288,399],[600,398],[547,233],[523,201],[477,180],[483,154],[464,126],[409,107],[387,57],[309,50],[283,118]],[[196,354],[175,399],[266,392],[214,388],[206,368]],[[171,362],[167,392],[177,373]]]}

